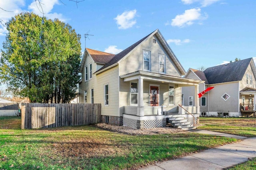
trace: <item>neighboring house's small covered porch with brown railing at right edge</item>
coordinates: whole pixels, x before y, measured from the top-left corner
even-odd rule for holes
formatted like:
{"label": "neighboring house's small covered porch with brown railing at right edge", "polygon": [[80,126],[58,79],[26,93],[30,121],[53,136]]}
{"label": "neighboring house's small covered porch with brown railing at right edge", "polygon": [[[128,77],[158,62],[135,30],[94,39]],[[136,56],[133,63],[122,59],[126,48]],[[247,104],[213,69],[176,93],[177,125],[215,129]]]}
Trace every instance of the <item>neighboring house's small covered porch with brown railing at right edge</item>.
{"label": "neighboring house's small covered porch with brown railing at right edge", "polygon": [[246,87],[240,91],[240,112],[241,115],[252,115],[256,112],[256,89]]}

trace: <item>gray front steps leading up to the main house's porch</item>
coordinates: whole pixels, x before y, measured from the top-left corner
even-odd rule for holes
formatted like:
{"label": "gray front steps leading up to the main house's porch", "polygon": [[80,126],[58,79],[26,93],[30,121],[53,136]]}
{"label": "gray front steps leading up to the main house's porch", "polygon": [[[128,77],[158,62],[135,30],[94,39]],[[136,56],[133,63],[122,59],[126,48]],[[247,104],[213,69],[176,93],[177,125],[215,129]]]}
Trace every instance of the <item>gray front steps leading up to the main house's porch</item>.
{"label": "gray front steps leading up to the main house's porch", "polygon": [[189,129],[195,129],[191,123],[185,119],[185,117],[172,117],[172,118],[167,118],[167,121],[171,123],[171,125],[174,128],[180,128],[182,130],[189,130]]}

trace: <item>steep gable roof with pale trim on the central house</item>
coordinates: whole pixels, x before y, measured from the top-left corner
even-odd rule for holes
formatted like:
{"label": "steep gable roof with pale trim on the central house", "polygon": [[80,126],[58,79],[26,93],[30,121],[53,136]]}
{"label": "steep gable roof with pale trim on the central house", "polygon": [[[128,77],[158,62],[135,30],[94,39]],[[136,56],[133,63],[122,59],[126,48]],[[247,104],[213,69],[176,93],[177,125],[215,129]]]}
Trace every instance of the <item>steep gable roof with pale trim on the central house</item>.
{"label": "steep gable roof with pale trim on the central house", "polygon": [[127,57],[130,53],[132,53],[132,51],[134,51],[140,44],[142,44],[144,41],[146,41],[147,39],[149,39],[150,37],[152,37],[155,34],[159,39],[162,39],[162,42],[163,42],[162,45],[166,48],[166,51],[169,53],[170,57],[172,58],[172,60],[174,61],[174,63],[178,67],[178,69],[180,70],[181,74],[184,75],[186,73],[184,68],[182,67],[182,65],[178,61],[177,57],[172,52],[172,49],[169,47],[168,43],[165,41],[164,37],[162,36],[162,34],[160,33],[160,31],[158,29],[156,29],[152,33],[148,34],[146,37],[140,39],[139,41],[137,41],[136,43],[134,43],[127,49],[125,49],[125,50],[121,51],[120,53],[118,53],[117,55],[115,55],[106,65],[104,65],[102,68],[97,70],[95,73],[100,73],[108,68],[111,68],[112,66],[115,66],[116,64],[118,64],[119,61],[121,61],[122,59]]}

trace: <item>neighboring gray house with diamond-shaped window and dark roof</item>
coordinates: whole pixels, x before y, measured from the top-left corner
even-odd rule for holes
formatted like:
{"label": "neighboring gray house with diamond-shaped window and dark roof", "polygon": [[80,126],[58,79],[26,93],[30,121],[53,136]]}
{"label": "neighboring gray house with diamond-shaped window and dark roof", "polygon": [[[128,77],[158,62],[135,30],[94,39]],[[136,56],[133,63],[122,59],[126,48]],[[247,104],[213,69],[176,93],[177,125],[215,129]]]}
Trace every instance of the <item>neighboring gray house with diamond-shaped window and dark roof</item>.
{"label": "neighboring gray house with diamond-shaped window and dark roof", "polygon": [[[255,113],[256,68],[252,58],[199,71],[190,68],[185,78],[202,80],[199,92],[214,86],[200,98],[201,116],[238,117]],[[195,93],[182,87],[183,105],[194,106]]]}

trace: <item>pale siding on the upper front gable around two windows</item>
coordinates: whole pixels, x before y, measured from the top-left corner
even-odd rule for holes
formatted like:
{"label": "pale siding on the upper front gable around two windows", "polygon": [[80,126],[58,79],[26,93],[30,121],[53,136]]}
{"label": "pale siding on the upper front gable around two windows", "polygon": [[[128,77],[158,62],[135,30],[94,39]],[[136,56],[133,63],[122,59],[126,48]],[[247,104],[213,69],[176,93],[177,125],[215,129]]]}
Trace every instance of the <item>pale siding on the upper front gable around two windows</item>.
{"label": "pale siding on the upper front gable around two windows", "polygon": [[[153,39],[156,39],[156,43],[153,43]],[[159,54],[164,54],[166,55],[166,74],[172,76],[181,76],[181,73],[174,64],[174,61],[172,61],[155,35],[142,43],[142,45],[137,47],[136,50],[134,50],[128,57],[120,62],[120,75],[143,70],[143,49],[151,52],[151,72],[159,73]]]}

